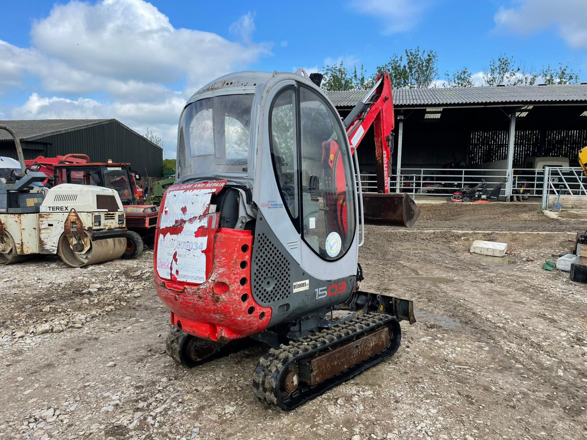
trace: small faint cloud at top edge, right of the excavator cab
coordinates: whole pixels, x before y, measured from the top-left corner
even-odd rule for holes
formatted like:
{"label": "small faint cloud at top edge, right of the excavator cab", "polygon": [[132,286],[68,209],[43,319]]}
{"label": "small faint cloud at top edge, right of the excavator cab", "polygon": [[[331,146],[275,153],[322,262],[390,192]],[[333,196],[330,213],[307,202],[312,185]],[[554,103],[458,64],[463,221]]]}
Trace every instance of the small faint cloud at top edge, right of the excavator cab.
{"label": "small faint cloud at top edge, right of the excavator cab", "polygon": [[350,7],[357,13],[370,15],[383,24],[384,34],[406,32],[416,26],[429,0],[351,0]]}

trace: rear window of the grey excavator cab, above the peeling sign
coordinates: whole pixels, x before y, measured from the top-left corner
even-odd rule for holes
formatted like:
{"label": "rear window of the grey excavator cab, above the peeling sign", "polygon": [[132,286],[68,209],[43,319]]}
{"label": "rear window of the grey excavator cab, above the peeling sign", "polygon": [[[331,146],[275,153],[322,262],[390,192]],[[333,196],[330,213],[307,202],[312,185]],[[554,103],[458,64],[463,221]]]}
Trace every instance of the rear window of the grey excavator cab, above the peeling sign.
{"label": "rear window of the grey excavator cab, above the peeling sign", "polygon": [[253,97],[214,96],[185,107],[177,145],[180,176],[248,171]]}

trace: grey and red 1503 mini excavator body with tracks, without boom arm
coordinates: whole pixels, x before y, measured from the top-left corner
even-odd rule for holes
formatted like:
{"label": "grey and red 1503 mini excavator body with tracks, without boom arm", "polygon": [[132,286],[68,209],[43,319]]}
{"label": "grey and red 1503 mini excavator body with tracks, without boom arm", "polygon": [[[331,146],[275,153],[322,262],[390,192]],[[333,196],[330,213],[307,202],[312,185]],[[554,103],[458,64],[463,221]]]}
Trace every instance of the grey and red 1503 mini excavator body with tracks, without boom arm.
{"label": "grey and red 1503 mini excavator body with tracks, without boom arm", "polygon": [[[255,370],[255,394],[293,409],[395,353],[399,320],[414,322],[413,310],[358,288],[353,153],[303,70],[234,73],[188,100],[154,250],[157,293],[176,327],[167,353],[178,363],[244,337],[278,348],[322,334],[279,368],[262,358]],[[335,308],[350,312],[340,326],[325,319]]]}

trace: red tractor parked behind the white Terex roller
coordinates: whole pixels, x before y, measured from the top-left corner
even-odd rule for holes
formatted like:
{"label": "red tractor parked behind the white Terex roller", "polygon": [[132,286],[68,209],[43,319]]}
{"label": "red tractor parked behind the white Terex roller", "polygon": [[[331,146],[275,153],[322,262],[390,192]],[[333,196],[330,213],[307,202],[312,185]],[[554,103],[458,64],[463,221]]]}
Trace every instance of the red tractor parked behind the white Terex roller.
{"label": "red tractor parked behind the white Terex roller", "polygon": [[157,226],[156,205],[144,204],[144,191],[137,180],[140,174],[130,169],[129,163],[113,163],[112,160],[90,162],[85,154],[43,157],[25,161],[31,170],[45,172],[46,187],[62,183],[96,185],[118,192],[126,213],[127,246],[123,258],[136,258],[143,252],[145,239],[154,237]]}

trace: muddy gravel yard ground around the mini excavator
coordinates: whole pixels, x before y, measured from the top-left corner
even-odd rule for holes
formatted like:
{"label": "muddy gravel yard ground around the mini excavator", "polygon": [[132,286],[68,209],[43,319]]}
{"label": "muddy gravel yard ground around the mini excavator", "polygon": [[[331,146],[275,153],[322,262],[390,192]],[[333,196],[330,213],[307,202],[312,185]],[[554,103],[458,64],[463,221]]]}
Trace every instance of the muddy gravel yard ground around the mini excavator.
{"label": "muddy gravel yard ground around the mini excavator", "polygon": [[[395,356],[289,413],[252,393],[263,346],[191,370],[167,357],[151,252],[0,267],[0,438],[587,438],[587,287],[541,269],[582,220],[534,220],[570,232],[426,231],[446,224],[426,207],[419,229],[367,227],[362,289],[413,299],[418,323]],[[474,239],[507,242],[507,261],[471,255]]]}

